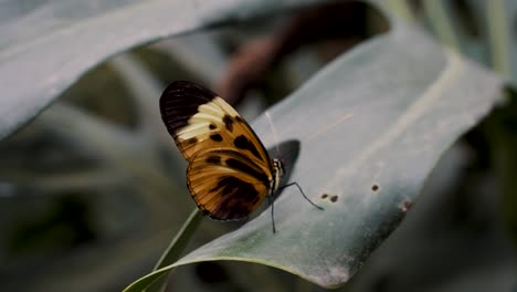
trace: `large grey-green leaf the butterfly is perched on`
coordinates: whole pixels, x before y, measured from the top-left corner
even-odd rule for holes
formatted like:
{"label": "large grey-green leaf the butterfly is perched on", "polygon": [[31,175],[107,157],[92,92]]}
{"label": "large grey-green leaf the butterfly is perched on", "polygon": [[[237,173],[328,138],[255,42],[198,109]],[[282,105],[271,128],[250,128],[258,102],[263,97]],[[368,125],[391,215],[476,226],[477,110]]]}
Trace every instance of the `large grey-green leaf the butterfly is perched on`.
{"label": "large grey-green leaf the butterfly is perched on", "polygon": [[277,233],[266,210],[128,291],[199,261],[262,263],[325,288],[357,272],[397,228],[442,153],[492,108],[502,85],[420,30],[392,25],[253,123],[267,146],[300,142],[291,180],[325,210],[287,188],[275,201]]}

